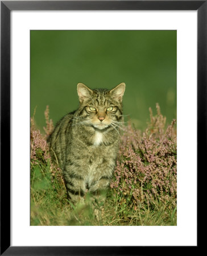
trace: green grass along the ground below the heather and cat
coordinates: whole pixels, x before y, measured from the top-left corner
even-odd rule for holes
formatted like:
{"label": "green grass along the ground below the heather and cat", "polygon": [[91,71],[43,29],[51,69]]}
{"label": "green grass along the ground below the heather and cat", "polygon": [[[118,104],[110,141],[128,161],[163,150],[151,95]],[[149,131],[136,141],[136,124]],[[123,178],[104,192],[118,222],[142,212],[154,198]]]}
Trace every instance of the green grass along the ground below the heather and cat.
{"label": "green grass along the ground below the heather and cat", "polygon": [[[42,158],[43,159],[43,158]],[[144,208],[131,201],[131,195],[116,193],[109,189],[102,211],[97,220],[90,204],[74,206],[67,199],[66,189],[60,171],[51,172],[49,160],[31,163],[31,225],[176,225],[176,208],[159,199],[156,207]]]}

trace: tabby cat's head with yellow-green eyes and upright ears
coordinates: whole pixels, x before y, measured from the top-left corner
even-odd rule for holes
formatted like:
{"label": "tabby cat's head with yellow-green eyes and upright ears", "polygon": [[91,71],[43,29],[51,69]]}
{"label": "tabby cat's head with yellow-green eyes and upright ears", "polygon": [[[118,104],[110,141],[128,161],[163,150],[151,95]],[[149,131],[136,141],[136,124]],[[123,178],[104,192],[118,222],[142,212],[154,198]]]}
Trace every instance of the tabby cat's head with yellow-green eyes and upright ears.
{"label": "tabby cat's head with yellow-green eyes and upright ears", "polygon": [[117,85],[111,90],[90,89],[79,83],[77,92],[80,101],[78,117],[85,125],[96,129],[117,127],[122,119],[122,97],[125,92],[125,83]]}

